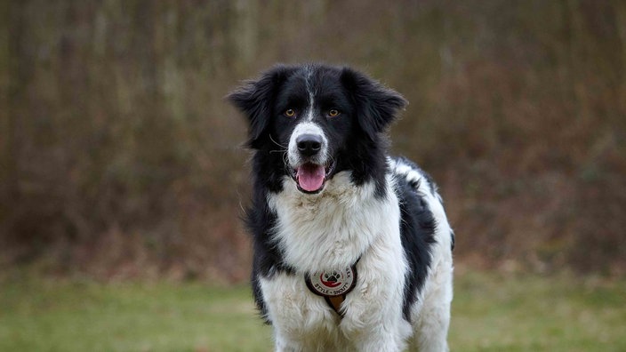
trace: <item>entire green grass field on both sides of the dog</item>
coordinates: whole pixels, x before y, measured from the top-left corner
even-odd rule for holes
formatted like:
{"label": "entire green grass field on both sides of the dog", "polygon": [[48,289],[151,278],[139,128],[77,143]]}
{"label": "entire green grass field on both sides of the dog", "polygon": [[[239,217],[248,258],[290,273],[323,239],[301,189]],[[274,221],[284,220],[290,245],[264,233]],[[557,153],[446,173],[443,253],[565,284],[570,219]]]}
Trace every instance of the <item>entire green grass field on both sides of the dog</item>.
{"label": "entire green grass field on both sides of the dog", "polygon": [[[457,275],[456,351],[626,351],[626,282]],[[247,286],[0,281],[0,351],[269,351]]]}

